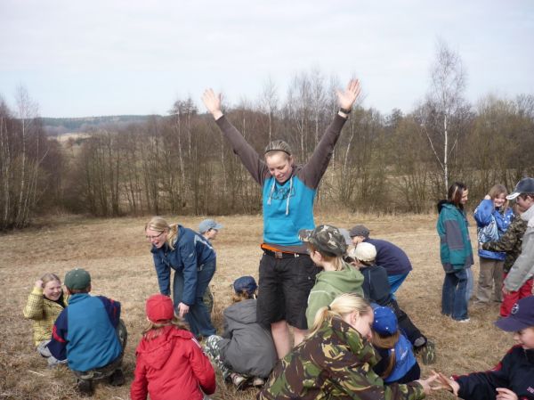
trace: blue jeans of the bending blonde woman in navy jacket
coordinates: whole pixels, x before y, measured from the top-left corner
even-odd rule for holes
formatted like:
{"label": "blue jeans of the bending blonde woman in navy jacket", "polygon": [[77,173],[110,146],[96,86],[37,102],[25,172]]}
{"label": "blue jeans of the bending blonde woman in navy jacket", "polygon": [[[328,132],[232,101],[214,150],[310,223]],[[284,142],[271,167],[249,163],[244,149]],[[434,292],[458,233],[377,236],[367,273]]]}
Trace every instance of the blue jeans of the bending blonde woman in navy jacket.
{"label": "blue jeans of the bending blonde woman in navy jacket", "polygon": [[[185,314],[185,321],[190,324],[191,332],[195,336],[202,335],[208,337],[217,333],[211,322],[211,316],[203,301],[207,285],[214,276],[216,264],[217,262],[214,260],[203,265],[198,265],[197,267],[195,304],[190,305],[189,313]],[[175,272],[173,281],[173,301],[176,313],[178,313],[178,304],[182,301],[183,283],[183,273]]]}

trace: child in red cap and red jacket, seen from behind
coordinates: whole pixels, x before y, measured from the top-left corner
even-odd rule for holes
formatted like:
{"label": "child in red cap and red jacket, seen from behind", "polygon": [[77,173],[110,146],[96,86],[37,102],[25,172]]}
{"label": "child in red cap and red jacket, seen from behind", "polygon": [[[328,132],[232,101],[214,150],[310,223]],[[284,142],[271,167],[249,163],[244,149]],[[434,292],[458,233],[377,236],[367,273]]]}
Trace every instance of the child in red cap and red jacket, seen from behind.
{"label": "child in red cap and red jacket, seen from behind", "polygon": [[[137,347],[132,400],[202,400],[215,391],[215,372],[197,340],[174,315],[171,298],[150,296],[149,325]],[[204,393],[203,393],[204,392]]]}

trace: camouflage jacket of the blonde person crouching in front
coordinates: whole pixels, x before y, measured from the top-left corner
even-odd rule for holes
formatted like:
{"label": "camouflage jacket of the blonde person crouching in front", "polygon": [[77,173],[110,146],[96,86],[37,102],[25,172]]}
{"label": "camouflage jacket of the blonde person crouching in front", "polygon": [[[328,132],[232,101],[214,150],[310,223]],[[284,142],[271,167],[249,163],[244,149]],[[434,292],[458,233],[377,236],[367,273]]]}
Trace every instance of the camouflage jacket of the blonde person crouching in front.
{"label": "camouflage jacket of the blonde person crouching in front", "polygon": [[277,363],[257,399],[425,398],[423,387],[415,382],[384,386],[372,369],[377,357],[358,331],[334,318]]}

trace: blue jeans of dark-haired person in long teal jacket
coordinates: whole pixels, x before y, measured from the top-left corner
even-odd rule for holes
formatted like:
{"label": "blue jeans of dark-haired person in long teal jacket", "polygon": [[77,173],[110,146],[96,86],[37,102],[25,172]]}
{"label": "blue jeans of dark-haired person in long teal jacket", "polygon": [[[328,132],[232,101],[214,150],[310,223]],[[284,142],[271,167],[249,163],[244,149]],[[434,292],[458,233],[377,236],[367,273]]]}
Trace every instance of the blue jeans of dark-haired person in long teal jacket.
{"label": "blue jeans of dark-haired person in long teal jacket", "polygon": [[450,315],[453,320],[461,321],[469,318],[467,315],[467,281],[468,273],[465,269],[452,273],[445,273],[443,291],[441,293],[441,313]]}

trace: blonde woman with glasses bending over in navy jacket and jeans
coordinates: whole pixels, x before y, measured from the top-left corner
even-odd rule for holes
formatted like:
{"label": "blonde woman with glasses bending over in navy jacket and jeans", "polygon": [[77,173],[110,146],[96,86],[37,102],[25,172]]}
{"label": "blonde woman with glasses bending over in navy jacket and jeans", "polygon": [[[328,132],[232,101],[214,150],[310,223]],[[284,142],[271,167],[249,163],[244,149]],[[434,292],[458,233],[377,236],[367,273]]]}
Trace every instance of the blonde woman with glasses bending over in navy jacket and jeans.
{"label": "blonde woman with glasses bending over in navy jacket and jeans", "polygon": [[216,333],[202,301],[207,285],[215,273],[215,252],[209,243],[189,228],[169,225],[154,216],[145,226],[150,241],[154,266],[158,273],[159,291],[171,294],[171,269],[174,269],[173,303],[176,314],[184,317],[195,335]]}

